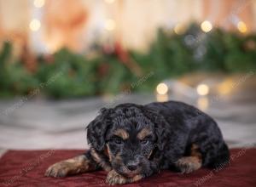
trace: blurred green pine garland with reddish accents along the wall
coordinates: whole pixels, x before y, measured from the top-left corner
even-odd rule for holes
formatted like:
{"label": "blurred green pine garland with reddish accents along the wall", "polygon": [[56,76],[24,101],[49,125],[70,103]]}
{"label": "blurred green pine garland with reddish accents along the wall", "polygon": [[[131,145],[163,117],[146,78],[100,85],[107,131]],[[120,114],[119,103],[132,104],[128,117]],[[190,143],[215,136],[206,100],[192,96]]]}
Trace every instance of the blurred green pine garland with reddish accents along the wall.
{"label": "blurred green pine garland with reddish accents along the wall", "polygon": [[[255,71],[256,35],[220,29],[204,33],[193,24],[182,35],[160,29],[146,54],[120,46],[110,53],[99,49],[97,54],[89,59],[63,48],[50,60],[39,56],[38,70],[32,73],[21,59],[14,59],[11,43],[5,42],[0,53],[0,97],[26,95],[37,88],[53,98],[148,92],[165,79],[191,71]],[[152,72],[154,76],[131,86]]]}

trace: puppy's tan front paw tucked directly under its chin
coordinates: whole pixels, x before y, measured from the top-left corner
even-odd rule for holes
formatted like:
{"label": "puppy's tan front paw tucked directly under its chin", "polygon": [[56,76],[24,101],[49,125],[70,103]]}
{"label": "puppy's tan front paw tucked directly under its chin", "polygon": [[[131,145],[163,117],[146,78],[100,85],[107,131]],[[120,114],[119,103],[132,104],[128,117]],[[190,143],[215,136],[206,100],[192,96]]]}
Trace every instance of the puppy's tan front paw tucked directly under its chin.
{"label": "puppy's tan front paw tucked directly under its chin", "polygon": [[134,183],[142,178],[143,178],[143,176],[140,174],[138,174],[132,178],[125,178],[124,176],[120,175],[119,173],[116,173],[116,171],[111,170],[108,173],[108,176],[106,178],[106,183],[108,183],[110,185],[127,184],[127,183]]}

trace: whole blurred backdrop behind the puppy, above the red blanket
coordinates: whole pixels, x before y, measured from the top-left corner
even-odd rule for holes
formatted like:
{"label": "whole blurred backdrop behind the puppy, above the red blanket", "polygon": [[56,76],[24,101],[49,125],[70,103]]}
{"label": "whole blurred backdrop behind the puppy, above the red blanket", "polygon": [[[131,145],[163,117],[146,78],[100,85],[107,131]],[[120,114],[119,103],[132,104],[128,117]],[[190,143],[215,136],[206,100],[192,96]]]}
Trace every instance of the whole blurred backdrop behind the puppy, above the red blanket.
{"label": "whole blurred backdrop behind the puppy, above the red blanket", "polygon": [[0,0],[0,151],[84,149],[102,107],[169,99],[256,143],[256,1]]}

